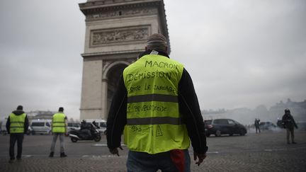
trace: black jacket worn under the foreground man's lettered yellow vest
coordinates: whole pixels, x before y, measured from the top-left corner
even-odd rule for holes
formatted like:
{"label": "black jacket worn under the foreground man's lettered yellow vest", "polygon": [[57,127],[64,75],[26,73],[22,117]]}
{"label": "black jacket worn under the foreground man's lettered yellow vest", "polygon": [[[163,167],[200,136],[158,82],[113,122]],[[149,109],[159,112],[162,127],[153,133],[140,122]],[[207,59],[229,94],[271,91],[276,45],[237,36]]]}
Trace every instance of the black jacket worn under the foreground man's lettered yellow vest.
{"label": "black jacket worn under the foreground man's lettered yellow vest", "polygon": [[[150,50],[143,52],[139,58],[149,55],[150,52]],[[165,52],[159,52],[159,55],[169,57]],[[125,88],[123,76],[121,76],[108,113],[107,141],[109,149],[120,146],[121,134],[127,122],[127,96],[128,91]],[[183,74],[179,81],[179,110],[183,114],[183,122],[186,124],[193,151],[199,154],[205,153],[208,147],[206,146],[203,117],[200,113],[200,106],[193,87],[193,81],[186,69],[183,69]]]}

